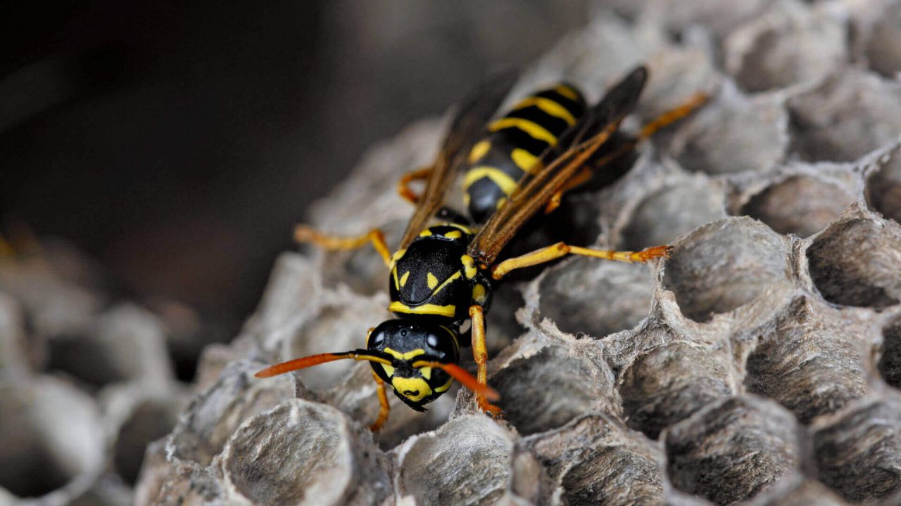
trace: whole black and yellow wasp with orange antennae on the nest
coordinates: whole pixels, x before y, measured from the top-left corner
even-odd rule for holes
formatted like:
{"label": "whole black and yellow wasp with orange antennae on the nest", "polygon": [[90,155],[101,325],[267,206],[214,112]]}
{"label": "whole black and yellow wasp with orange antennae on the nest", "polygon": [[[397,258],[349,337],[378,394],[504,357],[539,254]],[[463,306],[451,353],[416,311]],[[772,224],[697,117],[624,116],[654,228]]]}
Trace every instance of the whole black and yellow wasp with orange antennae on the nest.
{"label": "whole black and yellow wasp with orange antennae on the nest", "polygon": [[[633,112],[647,77],[645,68],[634,69],[591,108],[575,87],[560,84],[530,95],[494,122],[488,120],[514,79],[501,77],[480,87],[460,107],[432,167],[401,179],[399,194],[417,207],[393,255],[378,229],[355,238],[338,238],[298,226],[297,240],[323,248],[358,248],[371,242],[390,271],[388,310],[397,318],[369,330],[366,348],[297,358],[270,366],[257,376],[279,375],[332,360],[368,360],[381,403],[378,419],[370,426],[373,430],[387,420],[385,384],[408,406],[423,411],[423,405],[457,380],[476,393],[479,409],[500,414],[489,403],[498,395],[487,386],[485,312],[493,282],[515,269],[568,254],[624,262],[669,255],[666,246],[631,252],[560,242],[497,262],[523,224],[542,209],[551,212],[561,194],[591,176],[592,167],[632,149],[635,142],[685,116],[704,100],[697,95],[646,125],[631,141],[612,146],[611,138],[623,118]],[[460,174],[471,221],[442,207],[444,194]],[[426,180],[422,195],[408,186],[416,179]],[[454,215],[455,219],[427,226],[436,214]],[[468,319],[476,377],[457,365],[460,329]]]}

